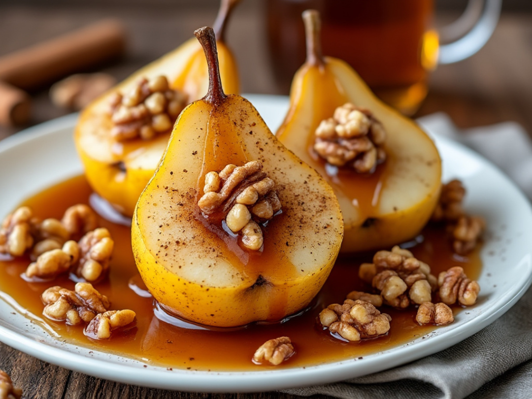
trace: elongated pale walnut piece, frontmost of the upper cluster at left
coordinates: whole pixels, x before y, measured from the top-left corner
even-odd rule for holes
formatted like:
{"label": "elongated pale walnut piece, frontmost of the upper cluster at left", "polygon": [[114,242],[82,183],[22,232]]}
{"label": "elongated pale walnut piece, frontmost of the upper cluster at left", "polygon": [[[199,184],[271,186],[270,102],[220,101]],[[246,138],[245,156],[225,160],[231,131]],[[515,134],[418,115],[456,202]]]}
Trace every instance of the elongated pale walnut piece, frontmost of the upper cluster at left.
{"label": "elongated pale walnut piece, frontmost of the upper cluster at left", "polygon": [[79,260],[79,248],[75,241],[67,241],[62,248],[46,251],[30,263],[25,275],[28,278],[52,279],[65,273]]}

